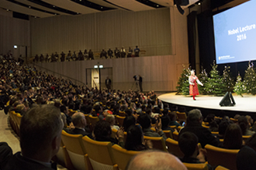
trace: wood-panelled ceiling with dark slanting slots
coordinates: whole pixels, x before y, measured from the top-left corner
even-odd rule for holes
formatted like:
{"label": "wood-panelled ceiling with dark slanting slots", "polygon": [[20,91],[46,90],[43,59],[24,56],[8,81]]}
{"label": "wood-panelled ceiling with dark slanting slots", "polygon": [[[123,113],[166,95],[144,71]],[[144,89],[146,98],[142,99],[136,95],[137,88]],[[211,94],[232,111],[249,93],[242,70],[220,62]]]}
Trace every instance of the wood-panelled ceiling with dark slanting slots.
{"label": "wood-panelled ceiling with dark slanting slots", "polygon": [[[170,7],[174,5],[173,1],[174,0],[0,0],[0,8],[31,15],[33,17],[45,18],[55,15],[83,15],[116,9],[137,12]],[[189,5],[198,1],[199,0],[189,0]],[[246,0],[234,0],[234,2],[237,3],[243,1]],[[232,3],[236,4],[234,2]]]}

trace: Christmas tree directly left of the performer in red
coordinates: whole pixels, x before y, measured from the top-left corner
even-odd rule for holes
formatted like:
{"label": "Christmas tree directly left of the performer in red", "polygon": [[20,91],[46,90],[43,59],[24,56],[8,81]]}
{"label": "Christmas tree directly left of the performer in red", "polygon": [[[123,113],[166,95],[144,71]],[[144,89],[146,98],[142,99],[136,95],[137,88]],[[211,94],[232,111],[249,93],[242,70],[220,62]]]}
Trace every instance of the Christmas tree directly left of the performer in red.
{"label": "Christmas tree directly left of the performer in red", "polygon": [[190,68],[185,68],[183,66],[182,74],[178,78],[178,86],[176,87],[177,93],[176,94],[189,94],[189,75],[190,75]]}

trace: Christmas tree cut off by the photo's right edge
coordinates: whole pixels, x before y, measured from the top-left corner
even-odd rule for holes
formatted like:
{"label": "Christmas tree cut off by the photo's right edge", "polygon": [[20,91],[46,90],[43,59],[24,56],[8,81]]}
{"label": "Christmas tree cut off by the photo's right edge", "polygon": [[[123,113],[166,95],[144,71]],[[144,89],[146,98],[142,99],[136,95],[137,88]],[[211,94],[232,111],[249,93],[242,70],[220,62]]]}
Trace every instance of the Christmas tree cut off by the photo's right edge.
{"label": "Christmas tree cut off by the photo's right edge", "polygon": [[256,73],[254,64],[249,62],[247,70],[244,75],[244,87],[246,93],[256,94]]}

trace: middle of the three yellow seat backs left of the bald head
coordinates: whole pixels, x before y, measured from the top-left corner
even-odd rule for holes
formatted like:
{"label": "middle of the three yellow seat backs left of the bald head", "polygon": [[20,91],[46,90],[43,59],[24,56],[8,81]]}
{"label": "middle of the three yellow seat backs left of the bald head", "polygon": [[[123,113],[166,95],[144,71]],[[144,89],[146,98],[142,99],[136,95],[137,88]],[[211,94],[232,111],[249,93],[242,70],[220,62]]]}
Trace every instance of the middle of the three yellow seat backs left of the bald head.
{"label": "middle of the three yellow seat backs left of the bald head", "polygon": [[88,136],[85,136],[82,138],[82,142],[93,169],[113,169],[115,161],[112,155],[112,143],[110,141],[94,141],[88,138]]}

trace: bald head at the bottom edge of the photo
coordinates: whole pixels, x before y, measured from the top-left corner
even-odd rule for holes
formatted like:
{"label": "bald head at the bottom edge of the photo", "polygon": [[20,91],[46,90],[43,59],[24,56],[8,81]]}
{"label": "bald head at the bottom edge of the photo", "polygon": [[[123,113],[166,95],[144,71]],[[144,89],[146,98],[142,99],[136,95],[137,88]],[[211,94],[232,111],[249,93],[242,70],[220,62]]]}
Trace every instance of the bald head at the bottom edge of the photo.
{"label": "bald head at the bottom edge of the photo", "polygon": [[126,170],[186,170],[182,162],[167,152],[144,151],[133,156],[126,165]]}

